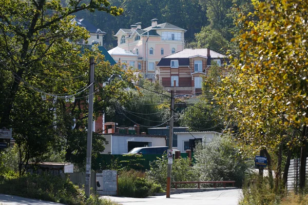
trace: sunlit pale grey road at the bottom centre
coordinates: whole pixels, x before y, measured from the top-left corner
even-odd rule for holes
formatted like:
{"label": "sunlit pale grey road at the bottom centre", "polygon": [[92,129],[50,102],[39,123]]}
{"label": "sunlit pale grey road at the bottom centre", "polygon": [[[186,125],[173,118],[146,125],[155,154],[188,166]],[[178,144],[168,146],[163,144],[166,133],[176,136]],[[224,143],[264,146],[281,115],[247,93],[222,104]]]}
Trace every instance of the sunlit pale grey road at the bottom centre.
{"label": "sunlit pale grey road at the bottom centre", "polygon": [[121,203],[123,205],[237,205],[241,195],[242,190],[236,189],[171,194],[170,198],[166,198],[166,196],[152,196],[147,198],[129,198],[115,196],[104,197],[110,198],[112,201]]}

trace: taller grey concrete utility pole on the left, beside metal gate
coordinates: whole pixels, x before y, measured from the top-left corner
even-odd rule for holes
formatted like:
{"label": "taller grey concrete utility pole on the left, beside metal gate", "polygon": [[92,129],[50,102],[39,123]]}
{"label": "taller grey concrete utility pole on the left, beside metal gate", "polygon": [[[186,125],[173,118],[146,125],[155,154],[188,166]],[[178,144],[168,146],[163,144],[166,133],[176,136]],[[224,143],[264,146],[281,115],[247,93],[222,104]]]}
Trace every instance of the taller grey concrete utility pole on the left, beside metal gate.
{"label": "taller grey concrete utility pole on the left, beside metal gate", "polygon": [[91,181],[91,155],[92,155],[92,124],[93,124],[93,93],[94,93],[94,58],[90,58],[90,88],[89,88],[89,113],[88,113],[88,135],[87,135],[87,161],[86,161],[86,197],[90,197]]}

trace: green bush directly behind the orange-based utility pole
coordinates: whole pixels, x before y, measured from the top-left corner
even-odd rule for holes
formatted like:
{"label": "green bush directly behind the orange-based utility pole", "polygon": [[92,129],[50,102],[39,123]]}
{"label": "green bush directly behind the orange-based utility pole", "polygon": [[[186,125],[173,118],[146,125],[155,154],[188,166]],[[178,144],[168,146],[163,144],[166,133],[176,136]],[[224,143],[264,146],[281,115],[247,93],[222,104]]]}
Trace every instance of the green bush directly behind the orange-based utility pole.
{"label": "green bush directly behind the orange-based utility pole", "polygon": [[[158,157],[157,160],[151,162],[150,170],[146,172],[147,177],[161,185],[161,187],[167,186],[167,163],[168,160],[164,155]],[[195,172],[195,169],[191,167],[191,161],[189,158],[179,158],[174,160],[171,169],[171,181],[195,181],[198,179],[199,173]],[[178,187],[191,187],[191,185],[179,185]]]}

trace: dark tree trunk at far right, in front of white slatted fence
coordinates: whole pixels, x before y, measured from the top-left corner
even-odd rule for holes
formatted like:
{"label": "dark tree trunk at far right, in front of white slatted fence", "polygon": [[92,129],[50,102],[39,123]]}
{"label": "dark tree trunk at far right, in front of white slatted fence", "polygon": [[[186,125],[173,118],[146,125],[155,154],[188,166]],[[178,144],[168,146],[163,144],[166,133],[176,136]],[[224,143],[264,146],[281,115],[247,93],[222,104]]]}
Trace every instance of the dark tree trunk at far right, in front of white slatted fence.
{"label": "dark tree trunk at far right, in front of white slatted fence", "polygon": [[306,139],[306,126],[303,126],[302,130],[302,146],[300,148],[300,166],[299,166],[299,190],[300,192],[303,192],[303,189],[305,188],[305,182],[306,182],[306,158],[307,158],[307,139]]}

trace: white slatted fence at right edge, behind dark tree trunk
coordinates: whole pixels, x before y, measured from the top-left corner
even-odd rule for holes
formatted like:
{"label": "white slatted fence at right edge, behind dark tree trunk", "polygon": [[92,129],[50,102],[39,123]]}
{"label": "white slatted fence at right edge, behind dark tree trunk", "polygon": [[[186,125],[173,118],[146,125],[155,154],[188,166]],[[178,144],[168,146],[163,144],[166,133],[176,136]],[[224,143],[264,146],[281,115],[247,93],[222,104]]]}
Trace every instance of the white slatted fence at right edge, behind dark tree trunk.
{"label": "white slatted fence at right edge, behind dark tree trunk", "polygon": [[[308,157],[306,158],[306,175],[308,174]],[[295,188],[298,188],[299,184],[299,167],[300,167],[300,161],[299,159],[291,159],[290,161],[290,167],[288,169],[287,173],[287,182],[286,182],[286,188],[287,190],[294,190]]]}

